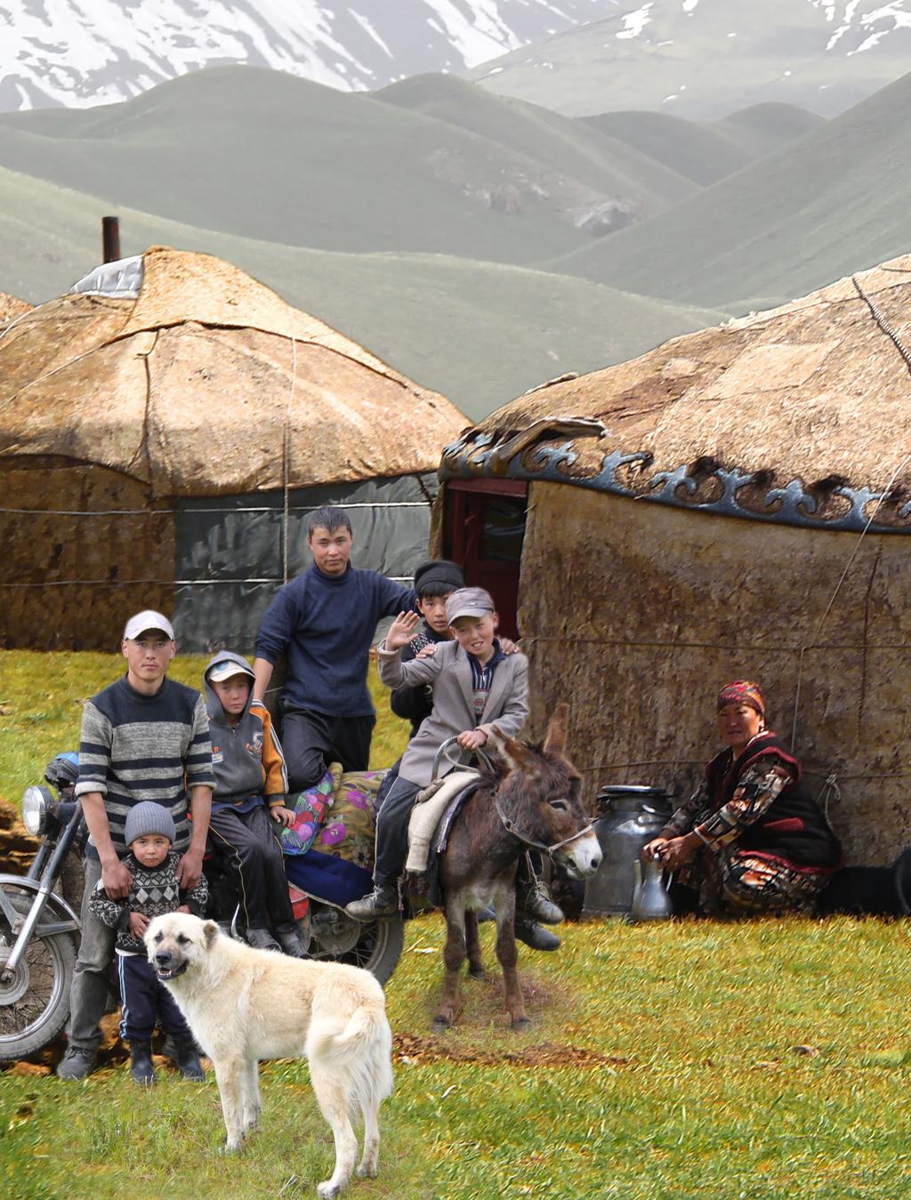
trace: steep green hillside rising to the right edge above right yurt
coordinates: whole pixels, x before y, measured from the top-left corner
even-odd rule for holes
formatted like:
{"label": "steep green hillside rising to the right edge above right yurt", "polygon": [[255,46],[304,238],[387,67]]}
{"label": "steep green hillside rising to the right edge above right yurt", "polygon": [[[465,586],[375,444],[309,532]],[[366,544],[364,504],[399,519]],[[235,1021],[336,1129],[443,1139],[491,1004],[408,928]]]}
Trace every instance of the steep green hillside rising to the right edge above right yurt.
{"label": "steep green hillside rising to the right edge above right yurt", "polygon": [[911,247],[911,74],[555,269],[685,304],[787,300]]}

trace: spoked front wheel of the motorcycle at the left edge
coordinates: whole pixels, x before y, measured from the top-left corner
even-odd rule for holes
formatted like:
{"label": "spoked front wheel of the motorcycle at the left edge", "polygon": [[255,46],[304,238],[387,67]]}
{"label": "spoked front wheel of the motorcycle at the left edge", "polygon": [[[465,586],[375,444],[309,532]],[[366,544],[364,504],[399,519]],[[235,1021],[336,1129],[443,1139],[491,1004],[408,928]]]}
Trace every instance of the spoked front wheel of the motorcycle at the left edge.
{"label": "spoked front wheel of the motorcycle at the left edge", "polygon": [[[25,888],[5,886],[7,900],[23,916],[35,899]],[[52,1042],[70,1016],[76,967],[72,934],[32,937],[11,979],[2,971],[16,936],[0,914],[0,1062],[24,1058]]]}

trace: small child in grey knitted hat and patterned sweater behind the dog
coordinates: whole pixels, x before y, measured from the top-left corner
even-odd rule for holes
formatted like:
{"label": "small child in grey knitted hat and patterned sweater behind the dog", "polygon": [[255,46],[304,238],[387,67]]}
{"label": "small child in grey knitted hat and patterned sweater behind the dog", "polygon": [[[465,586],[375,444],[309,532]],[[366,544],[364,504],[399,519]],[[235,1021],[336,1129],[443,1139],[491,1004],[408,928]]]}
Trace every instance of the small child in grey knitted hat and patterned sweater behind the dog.
{"label": "small child in grey knitted hat and patterned sweater behind the dog", "polygon": [[202,916],[208,899],[205,876],[188,894],[178,882],[181,856],[172,850],[174,820],[166,808],[151,800],[134,804],[126,817],[125,840],[130,853],[124,865],[133,877],[130,894],[108,898],[98,880],[89,905],[94,914],[116,930],[118,977],[122,1019],[120,1037],[130,1043],[130,1074],[137,1084],[155,1082],[151,1038],[156,1020],[175,1045],[175,1062],[184,1079],[205,1079],[190,1026],[167,988],[161,984],[145,954],[143,935],[152,917],[166,912]]}

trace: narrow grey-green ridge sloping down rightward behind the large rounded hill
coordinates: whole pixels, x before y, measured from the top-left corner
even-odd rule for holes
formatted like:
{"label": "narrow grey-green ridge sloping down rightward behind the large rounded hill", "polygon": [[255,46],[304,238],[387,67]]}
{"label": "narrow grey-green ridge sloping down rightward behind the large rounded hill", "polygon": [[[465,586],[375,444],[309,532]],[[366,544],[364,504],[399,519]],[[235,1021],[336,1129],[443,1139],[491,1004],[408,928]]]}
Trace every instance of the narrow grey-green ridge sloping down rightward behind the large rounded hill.
{"label": "narrow grey-green ridge sloping down rightward behind the large rounded hill", "polygon": [[676,169],[624,139],[538,104],[495,96],[450,74],[422,74],[372,92],[376,100],[467,130],[516,154],[550,163],[607,196],[634,198],[646,212],[695,188]]}

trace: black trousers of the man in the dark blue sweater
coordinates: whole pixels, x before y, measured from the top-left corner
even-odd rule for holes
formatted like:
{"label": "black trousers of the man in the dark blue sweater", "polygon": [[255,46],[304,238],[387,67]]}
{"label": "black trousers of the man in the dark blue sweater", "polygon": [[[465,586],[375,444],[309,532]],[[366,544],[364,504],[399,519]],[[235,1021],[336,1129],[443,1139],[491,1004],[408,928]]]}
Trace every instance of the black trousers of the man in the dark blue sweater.
{"label": "black trousers of the man in the dark blue sweater", "polygon": [[292,792],[313,787],[332,762],[342,770],[366,770],[376,716],[326,716],[310,709],[282,709],[282,748]]}

